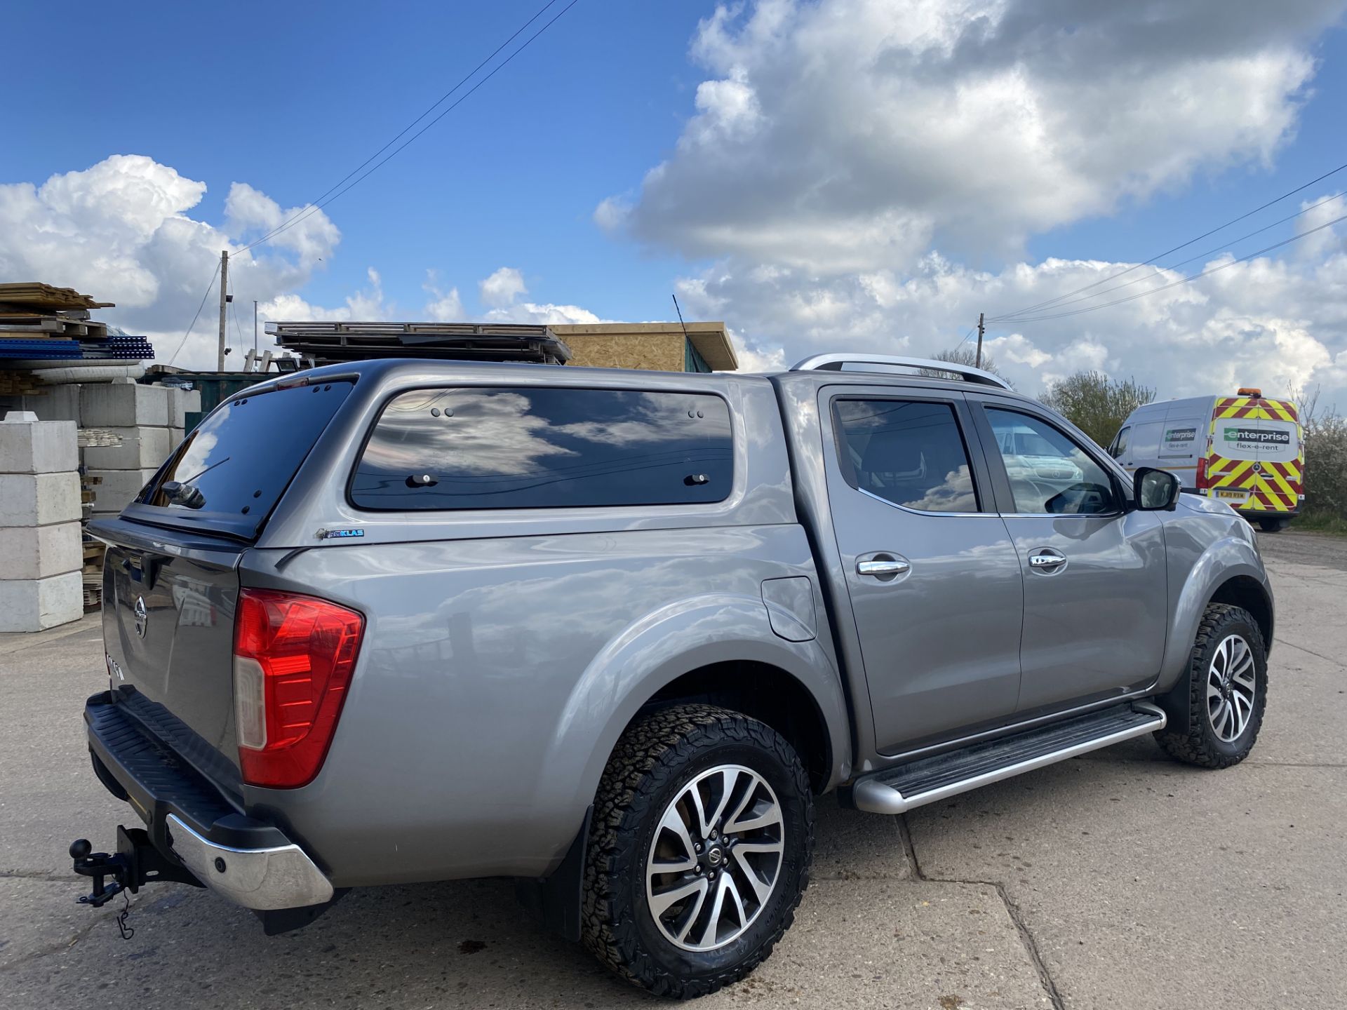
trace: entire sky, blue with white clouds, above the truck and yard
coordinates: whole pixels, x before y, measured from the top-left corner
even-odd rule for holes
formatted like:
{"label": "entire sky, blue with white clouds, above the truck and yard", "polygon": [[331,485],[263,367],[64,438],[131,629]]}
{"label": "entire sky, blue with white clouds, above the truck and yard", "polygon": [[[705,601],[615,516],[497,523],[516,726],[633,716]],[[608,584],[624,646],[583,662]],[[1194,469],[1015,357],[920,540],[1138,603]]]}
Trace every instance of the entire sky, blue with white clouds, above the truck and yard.
{"label": "entire sky, blue with white clouds, above the truck and yard", "polygon": [[[85,174],[116,155],[150,160],[119,168],[116,201],[92,174],[69,180],[88,193],[65,205],[36,190],[47,218],[11,211],[18,225],[8,249],[0,236],[0,272],[101,283],[96,294],[119,300],[125,325],[171,334],[199,300],[187,290],[201,292],[210,276],[206,248],[229,230],[234,183],[280,207],[304,203],[541,3],[9,11],[15,38],[58,38],[71,54],[59,73],[5,82],[0,187],[19,194],[11,206],[26,206],[20,186]],[[939,0],[729,9],[581,0],[331,203],[339,241],[333,230],[298,263],[295,250],[268,248],[268,271],[240,272],[236,292],[272,304],[277,318],[422,318],[432,271],[469,318],[515,312],[527,299],[539,306],[528,318],[571,306],[652,319],[671,316],[678,290],[688,315],[730,325],[748,364],[838,345],[929,353],[955,342],[982,308],[1091,283],[1347,162],[1342,8],[986,0],[960,22]],[[1063,9],[1070,23],[1057,20]],[[667,171],[643,186],[661,163]],[[179,194],[166,203],[162,179],[137,193],[136,174],[159,167],[203,183],[199,201]],[[1301,195],[1340,189],[1347,172]],[[88,236],[67,249],[34,241],[79,228],[71,199],[150,207],[105,213],[120,224],[100,218],[119,264],[139,272],[120,294],[106,290],[121,283],[114,271],[90,268],[100,246]],[[1293,213],[1299,199],[1228,234]],[[616,210],[595,221],[605,201]],[[189,221],[199,233],[190,256],[116,232],[156,221],[160,203],[166,222]],[[65,224],[51,224],[58,218]],[[1191,364],[1207,384],[1254,373],[1347,389],[1347,308],[1313,304],[1316,285],[1347,276],[1334,272],[1347,271],[1340,230],[1312,244],[1313,263],[1297,246],[1274,259],[1272,273],[1282,264],[1286,273],[1276,284],[1228,271],[1228,283],[1199,298],[1189,296],[1195,285],[1140,303],[1144,315],[1102,310],[1070,325],[994,327],[993,347],[1026,388],[1083,366],[1145,377]],[[257,233],[236,229],[229,240],[237,248]],[[1289,234],[1288,225],[1235,253]],[[1052,268],[1049,257],[1082,263]],[[527,295],[482,302],[478,283],[500,268],[519,271]],[[369,292],[370,269],[381,291],[343,308]],[[1161,368],[1134,345],[1177,357]],[[1238,365],[1216,366],[1231,354]]]}

